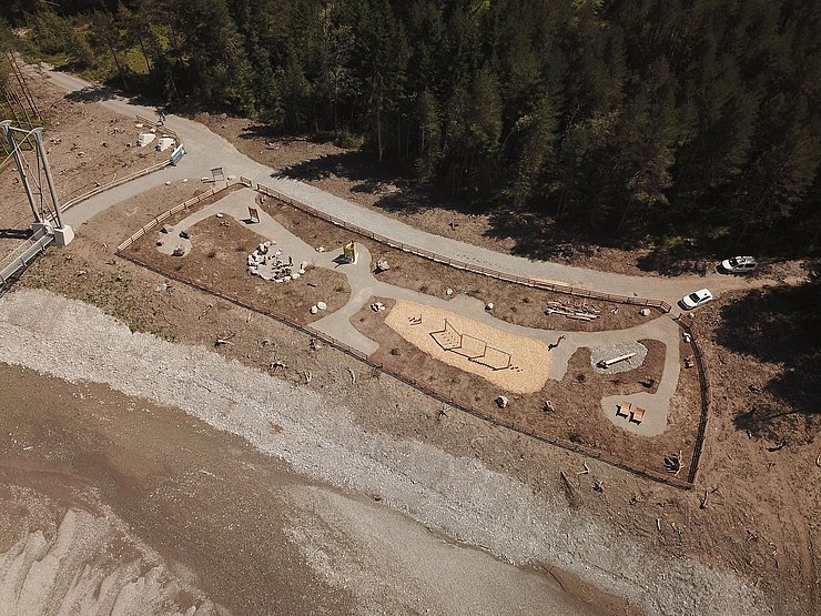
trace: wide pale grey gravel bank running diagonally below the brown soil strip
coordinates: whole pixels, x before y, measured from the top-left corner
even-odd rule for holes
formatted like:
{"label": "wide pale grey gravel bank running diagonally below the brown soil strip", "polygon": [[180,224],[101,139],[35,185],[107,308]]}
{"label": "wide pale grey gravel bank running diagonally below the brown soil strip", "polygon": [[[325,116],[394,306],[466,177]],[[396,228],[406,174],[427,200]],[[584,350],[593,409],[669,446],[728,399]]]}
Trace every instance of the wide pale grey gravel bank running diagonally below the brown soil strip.
{"label": "wide pale grey gravel bank running diagonally below the brown soil strip", "polygon": [[[770,613],[759,592],[731,572],[659,556],[570,511],[559,496],[535,495],[475,460],[365,432],[332,393],[293,386],[202,347],[132,334],[87,304],[44,291],[6,295],[0,361],[179,407],[305,475],[379,495],[422,524],[511,563],[569,570],[648,614]],[[273,434],[271,422],[284,430]]]}

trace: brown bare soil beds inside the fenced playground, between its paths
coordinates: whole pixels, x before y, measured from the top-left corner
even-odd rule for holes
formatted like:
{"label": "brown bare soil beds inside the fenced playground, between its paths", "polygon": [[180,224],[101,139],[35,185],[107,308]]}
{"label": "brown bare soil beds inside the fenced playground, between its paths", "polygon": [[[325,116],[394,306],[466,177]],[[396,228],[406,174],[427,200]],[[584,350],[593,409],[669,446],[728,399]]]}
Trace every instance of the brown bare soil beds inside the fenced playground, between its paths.
{"label": "brown bare soil beds inside the fenced playground, between its paths", "polygon": [[[169,219],[169,224],[174,224],[219,198],[220,195],[215,195],[194,205],[192,210],[176,214]],[[312,245],[337,248],[351,240],[351,233],[346,230],[282,202],[263,200],[261,195],[257,196],[257,201],[277,222]],[[220,219],[212,216],[189,229],[193,248],[184,257],[160,253],[153,244],[162,235],[154,232],[146,233],[125,252],[176,280],[212,289],[300,324],[307,324],[322,316],[311,315],[308,312],[317,301],[326,301],[328,310],[333,311],[344,305],[349,297],[351,289],[342,274],[318,267],[298,281],[283,284],[273,284],[250,275],[245,266],[245,256],[253,246],[265,241],[265,238],[241,228],[236,222],[231,222],[230,226],[222,226],[220,223]],[[513,323],[551,329],[550,321],[560,321],[559,327],[572,331],[601,331],[608,323],[627,327],[647,319],[638,315],[636,306],[612,304],[612,307],[619,309],[618,314],[612,314],[610,305],[600,302],[587,304],[588,307],[599,306],[601,311],[601,317],[591,322],[556,315],[546,316],[544,307],[548,301],[561,300],[577,305],[582,301],[565,294],[519,286],[473,272],[459,271],[365,238],[357,236],[357,241],[362,241],[372,251],[373,266],[378,259],[388,255],[393,264],[391,270],[379,274],[381,280],[422,292],[429,291],[430,286],[440,287],[439,296],[446,296],[446,285],[454,285],[456,292],[466,292],[484,301],[493,300],[496,306],[494,314]],[[308,282],[317,286],[308,286]],[[334,294],[325,293],[326,289],[334,289]],[[388,306],[393,305],[392,301],[378,300]],[[620,431],[601,417],[599,407],[599,401],[604,395],[628,395],[641,391],[653,393],[656,385],[647,390],[639,381],[645,377],[653,378],[656,382],[660,380],[665,360],[663,344],[646,341],[648,355],[642,367],[614,377],[595,373],[590,367],[589,350],[580,350],[570,360],[568,375],[561,383],[548,382],[539,393],[533,395],[513,394],[510,406],[499,414],[494,403],[499,394],[498,387],[426,355],[385,325],[384,317],[387,312],[374,313],[368,307],[371,303],[367,302],[352,321],[363,334],[379,343],[379,351],[372,359],[416,380],[429,390],[452,397],[463,406],[475,408],[484,416],[513,422],[525,431],[535,431],[582,444],[624,461],[629,466],[663,473],[665,455],[676,451],[682,451],[686,466],[689,464],[696,445],[696,430],[700,415],[695,371],[690,386],[678,392],[670,415],[670,430],[662,436],[647,438]],[[235,332],[225,332],[215,337],[224,339],[229,334]],[[546,400],[550,400],[564,412],[545,413],[543,408]]]}

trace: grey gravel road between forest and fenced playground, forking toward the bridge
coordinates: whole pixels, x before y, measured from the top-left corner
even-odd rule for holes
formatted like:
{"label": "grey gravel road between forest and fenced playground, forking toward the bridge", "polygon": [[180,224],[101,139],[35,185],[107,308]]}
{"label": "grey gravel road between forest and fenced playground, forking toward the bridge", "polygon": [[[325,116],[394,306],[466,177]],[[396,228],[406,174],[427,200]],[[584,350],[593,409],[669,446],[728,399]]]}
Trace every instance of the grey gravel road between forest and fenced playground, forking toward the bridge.
{"label": "grey gravel road between forest and fenced playground, forking toward the bridge", "polygon": [[[58,71],[48,71],[51,81],[69,91],[77,92],[83,89],[97,88],[77,77]],[[156,111],[152,108],[133,104],[120,97],[112,97],[99,104],[125,115],[144,115],[155,118]],[[551,280],[572,286],[614,293],[619,295],[637,295],[663,300],[673,306],[673,314],[678,307],[676,303],[686,293],[709,287],[714,295],[732,289],[752,289],[768,282],[744,277],[724,276],[710,273],[705,277],[679,276],[629,276],[587,270],[547,261],[533,261],[521,256],[514,256],[494,252],[491,250],[459,242],[450,238],[434,235],[409,226],[396,219],[368,210],[338,196],[334,196],[315,186],[291,180],[275,173],[272,169],[241,154],[225,139],[214,134],[203,124],[169,115],[166,124],[176,131],[185,143],[186,154],[179,166],[168,168],[158,173],[146,175],[129,182],[122,186],[107,191],[93,199],[89,199],[67,212],[69,224],[78,228],[83,222],[104,211],[109,206],[143,191],[161,185],[168,180],[182,178],[201,178],[210,175],[210,170],[222,166],[225,173],[244,175],[256,183],[262,183],[293,199],[298,199],[317,210],[322,210],[346,222],[368,229],[397,242],[412,244],[416,248],[439,253],[450,259],[465,261],[483,267],[493,267],[513,275]]]}

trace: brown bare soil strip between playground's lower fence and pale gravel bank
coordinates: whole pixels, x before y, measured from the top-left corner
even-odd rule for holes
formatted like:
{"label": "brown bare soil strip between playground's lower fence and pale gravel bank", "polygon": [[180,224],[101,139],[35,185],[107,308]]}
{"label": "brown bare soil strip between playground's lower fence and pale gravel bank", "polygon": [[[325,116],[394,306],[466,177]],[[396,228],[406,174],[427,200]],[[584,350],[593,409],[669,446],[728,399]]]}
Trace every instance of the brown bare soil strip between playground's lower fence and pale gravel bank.
{"label": "brown bare soil strip between playground's lower fence and pale gravel bank", "polygon": [[[773,455],[738,431],[731,410],[746,400],[743,387],[728,388],[726,402],[718,395],[714,398],[714,415],[708,425],[696,491],[680,492],[589,461],[592,476],[576,475],[584,458],[510,431],[489,427],[462,413],[448,412],[447,417],[437,421],[440,405],[407,385],[359,367],[333,349],[323,346],[312,351],[307,336],[271,320],[253,316],[246,323],[245,311],[185,285],[172,284],[158,291],[159,285],[170,281],[112,259],[112,246],[133,229],[191,193],[186,184],[162,186],[153,194],[113,206],[87,223],[70,246],[47,252],[27,271],[21,284],[45,286],[84,300],[132,329],[169,340],[211,346],[219,333],[236,331],[234,344],[220,347],[221,354],[260,370],[267,370],[272,356],[276,356],[288,366],[280,373],[281,377],[294,383],[304,383],[303,374],[310,371],[313,380],[302,386],[334,391],[342,402],[356,410],[356,418],[364,430],[430,443],[457,456],[475,457],[488,468],[520,478],[537,494],[564,492],[559,471],[565,469],[576,491],[579,509],[609,519],[616,532],[635,537],[658,553],[695,555],[737,572],[774,597],[778,614],[817,613],[821,604],[812,580],[817,577],[815,562],[821,557],[817,547],[821,538],[817,523],[811,519],[819,509],[813,479],[820,471],[814,466],[817,452],[803,445]],[[136,224],[138,221],[142,222]],[[103,242],[108,242],[108,249]],[[79,275],[81,271],[85,274]],[[716,310],[722,302],[723,299],[716,302]],[[213,310],[197,320],[210,303]],[[700,339],[708,349],[710,337],[705,332]],[[272,341],[272,345],[263,349],[262,340]],[[351,384],[345,366],[356,371],[355,385]],[[736,370],[754,373],[756,365],[729,366],[714,372],[713,380],[731,383],[737,378]],[[569,376],[572,375],[571,370]],[[682,371],[685,386],[688,386],[685,376],[691,375],[691,371]],[[574,386],[584,392],[586,385]],[[677,398],[673,397],[673,405]],[[557,393],[554,403],[561,404],[561,400]],[[683,398],[679,404],[681,413],[691,412]],[[562,408],[559,406],[560,412]],[[671,424],[678,423],[676,413],[673,407]],[[566,427],[565,431],[569,436]],[[602,493],[592,492],[594,478],[604,483]],[[705,492],[709,493],[709,499],[702,508]],[[788,514],[789,524],[784,524]],[[748,531],[757,538],[750,541]],[[770,543],[778,548],[778,566]]]}

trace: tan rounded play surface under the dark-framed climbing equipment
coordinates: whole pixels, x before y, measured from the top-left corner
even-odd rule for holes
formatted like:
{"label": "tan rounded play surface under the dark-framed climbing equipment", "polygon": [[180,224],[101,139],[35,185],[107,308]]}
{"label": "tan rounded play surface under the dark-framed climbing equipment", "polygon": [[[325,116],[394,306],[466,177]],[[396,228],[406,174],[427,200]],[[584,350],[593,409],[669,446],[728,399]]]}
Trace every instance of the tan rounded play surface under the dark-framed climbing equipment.
{"label": "tan rounded play surface under the dark-framed climbing equipment", "polygon": [[385,323],[432,357],[507,392],[530,394],[547,382],[550,352],[541,342],[405,301],[396,302]]}

